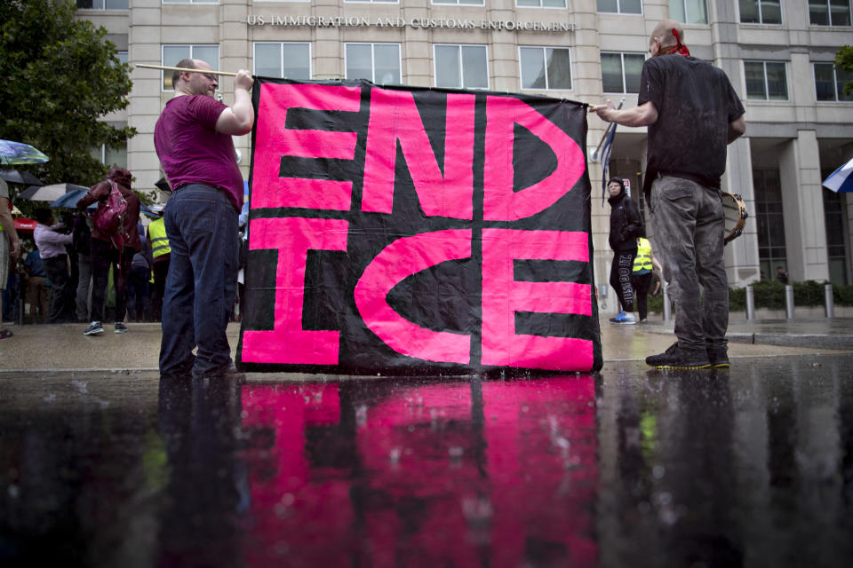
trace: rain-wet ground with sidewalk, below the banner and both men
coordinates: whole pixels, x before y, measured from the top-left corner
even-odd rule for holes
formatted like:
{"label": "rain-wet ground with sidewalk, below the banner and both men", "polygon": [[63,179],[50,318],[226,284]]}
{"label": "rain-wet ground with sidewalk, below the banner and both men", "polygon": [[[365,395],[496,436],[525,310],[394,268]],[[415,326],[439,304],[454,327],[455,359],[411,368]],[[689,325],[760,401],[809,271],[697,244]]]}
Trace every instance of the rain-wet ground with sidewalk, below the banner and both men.
{"label": "rain-wet ground with sidewalk, below the banner and both men", "polygon": [[847,566],[853,352],[660,372],[655,327],[599,375],[170,383],[153,325],[13,327],[0,565]]}

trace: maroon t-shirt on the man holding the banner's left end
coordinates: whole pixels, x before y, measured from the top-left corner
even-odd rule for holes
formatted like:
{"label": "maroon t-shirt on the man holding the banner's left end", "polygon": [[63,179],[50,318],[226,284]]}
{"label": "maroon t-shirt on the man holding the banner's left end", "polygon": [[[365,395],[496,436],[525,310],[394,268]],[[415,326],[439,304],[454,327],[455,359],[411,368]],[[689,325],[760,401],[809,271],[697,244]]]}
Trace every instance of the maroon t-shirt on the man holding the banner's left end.
{"label": "maroon t-shirt on the man holding the banner's left end", "polygon": [[243,208],[243,176],[231,135],[216,131],[227,106],[206,95],[184,95],[166,103],[154,129],[154,146],[173,188],[187,184],[218,187]]}

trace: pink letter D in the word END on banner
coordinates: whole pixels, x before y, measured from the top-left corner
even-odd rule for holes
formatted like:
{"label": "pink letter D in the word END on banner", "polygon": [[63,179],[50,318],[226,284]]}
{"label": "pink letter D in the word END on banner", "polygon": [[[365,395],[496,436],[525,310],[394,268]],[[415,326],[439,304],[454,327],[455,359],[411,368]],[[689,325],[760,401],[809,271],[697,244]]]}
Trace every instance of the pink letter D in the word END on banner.
{"label": "pink letter D in the word END on banner", "polygon": [[[557,156],[557,167],[549,176],[520,192],[513,191],[515,124],[530,130]],[[486,99],[482,203],[485,220],[516,221],[532,217],[569,193],[585,170],[586,160],[578,143],[535,108],[510,97]]]}

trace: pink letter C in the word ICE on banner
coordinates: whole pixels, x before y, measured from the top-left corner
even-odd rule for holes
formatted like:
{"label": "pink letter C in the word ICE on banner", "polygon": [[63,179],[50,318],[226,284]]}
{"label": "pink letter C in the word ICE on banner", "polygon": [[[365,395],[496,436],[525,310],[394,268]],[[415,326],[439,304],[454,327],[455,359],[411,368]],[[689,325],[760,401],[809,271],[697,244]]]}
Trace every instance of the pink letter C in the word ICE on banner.
{"label": "pink letter C in the word ICE on banner", "polygon": [[419,233],[392,242],[368,264],[355,285],[355,305],[365,325],[403,355],[467,365],[471,360],[469,335],[420,327],[395,312],[388,305],[387,296],[411,274],[470,256],[470,229]]}

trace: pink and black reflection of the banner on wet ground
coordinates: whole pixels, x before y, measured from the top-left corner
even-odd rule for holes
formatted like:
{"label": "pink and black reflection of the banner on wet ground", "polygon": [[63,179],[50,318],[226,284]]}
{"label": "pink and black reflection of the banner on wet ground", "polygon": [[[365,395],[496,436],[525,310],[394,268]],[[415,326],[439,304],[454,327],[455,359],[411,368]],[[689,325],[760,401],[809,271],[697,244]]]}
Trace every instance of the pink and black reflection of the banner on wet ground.
{"label": "pink and black reflection of the banner on wet ground", "polygon": [[594,380],[243,386],[247,564],[596,564]]}

